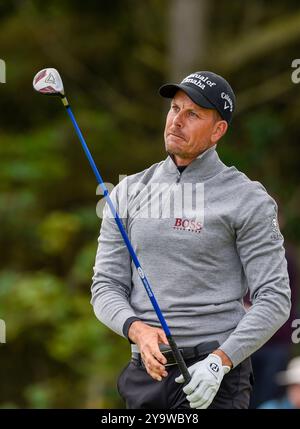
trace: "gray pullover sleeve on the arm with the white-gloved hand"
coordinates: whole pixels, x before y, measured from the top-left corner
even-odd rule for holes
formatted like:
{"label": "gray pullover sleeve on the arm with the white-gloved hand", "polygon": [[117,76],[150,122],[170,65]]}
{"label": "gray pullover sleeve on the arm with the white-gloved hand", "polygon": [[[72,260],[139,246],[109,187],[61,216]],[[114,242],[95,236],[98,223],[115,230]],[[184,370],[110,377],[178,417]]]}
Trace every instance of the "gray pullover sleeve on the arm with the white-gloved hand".
{"label": "gray pullover sleeve on the arm with the white-gloved hand", "polygon": [[[253,197],[253,194],[252,194]],[[243,201],[236,247],[252,306],[221,349],[236,366],[260,348],[290,313],[290,286],[274,200],[261,189]]]}

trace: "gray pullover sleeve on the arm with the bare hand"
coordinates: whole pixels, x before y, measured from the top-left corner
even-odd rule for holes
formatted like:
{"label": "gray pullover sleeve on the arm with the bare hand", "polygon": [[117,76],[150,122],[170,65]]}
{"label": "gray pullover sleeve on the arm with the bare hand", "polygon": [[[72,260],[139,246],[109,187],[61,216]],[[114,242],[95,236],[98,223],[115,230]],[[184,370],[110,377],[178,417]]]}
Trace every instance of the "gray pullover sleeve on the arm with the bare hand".
{"label": "gray pullover sleeve on the arm with the bare hand", "polygon": [[[118,210],[117,188],[111,194]],[[136,317],[129,304],[131,291],[131,258],[121,233],[106,204],[98,239],[94,266],[92,299],[96,317],[117,334],[124,336],[127,319]],[[126,229],[126,219],[122,219]]]}

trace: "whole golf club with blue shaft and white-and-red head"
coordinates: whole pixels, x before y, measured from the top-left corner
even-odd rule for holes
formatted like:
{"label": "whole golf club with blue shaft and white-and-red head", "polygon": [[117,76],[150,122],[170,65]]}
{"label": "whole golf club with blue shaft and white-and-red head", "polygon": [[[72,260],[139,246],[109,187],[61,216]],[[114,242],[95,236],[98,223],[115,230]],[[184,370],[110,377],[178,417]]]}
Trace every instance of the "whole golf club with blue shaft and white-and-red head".
{"label": "whole golf club with blue shaft and white-and-red head", "polygon": [[75,117],[73,115],[71,107],[70,107],[70,105],[68,103],[68,100],[67,100],[67,98],[65,96],[62,79],[61,79],[58,71],[56,69],[54,69],[54,68],[46,68],[46,69],[43,69],[43,70],[39,71],[35,75],[35,77],[33,79],[33,88],[37,92],[40,92],[41,94],[59,96],[61,98],[61,100],[62,100],[63,105],[67,109],[67,112],[68,112],[68,114],[69,114],[69,116],[71,118],[71,121],[72,121],[73,126],[75,128],[75,131],[76,131],[76,133],[77,133],[77,135],[79,137],[79,140],[81,142],[83,150],[84,150],[84,152],[85,152],[85,154],[86,154],[86,156],[88,158],[88,161],[89,161],[89,163],[90,163],[90,165],[91,165],[91,167],[93,169],[93,172],[94,172],[94,174],[96,176],[96,179],[97,179],[98,183],[102,187],[102,190],[103,190],[103,193],[104,193],[104,197],[105,197],[105,199],[106,199],[106,201],[107,201],[107,203],[108,203],[108,205],[110,207],[110,210],[111,210],[111,212],[112,212],[112,214],[113,214],[113,216],[115,218],[115,221],[116,221],[116,223],[118,225],[119,231],[120,231],[120,233],[121,233],[121,235],[123,237],[123,240],[124,240],[124,242],[125,242],[125,244],[127,246],[127,249],[128,249],[128,251],[130,253],[130,256],[132,257],[132,260],[133,260],[134,265],[135,265],[135,267],[137,269],[138,275],[139,275],[139,277],[140,277],[140,279],[141,279],[141,281],[142,281],[142,283],[143,283],[143,285],[144,285],[144,287],[146,289],[148,297],[150,298],[150,301],[151,301],[151,303],[153,305],[153,308],[154,308],[154,310],[155,310],[155,312],[157,314],[157,317],[158,317],[158,319],[160,321],[160,324],[161,324],[161,326],[162,326],[162,328],[163,328],[163,330],[164,330],[164,332],[166,334],[166,337],[168,339],[169,345],[170,345],[171,350],[173,352],[174,358],[175,358],[175,360],[176,360],[176,362],[178,364],[178,367],[179,367],[179,369],[181,371],[181,374],[183,375],[185,382],[188,383],[190,381],[190,379],[191,379],[189,371],[188,371],[188,369],[186,367],[186,364],[185,364],[184,359],[183,359],[183,357],[181,355],[181,352],[178,349],[177,344],[176,344],[175,340],[173,339],[173,337],[171,335],[171,332],[170,332],[170,329],[169,329],[169,327],[167,325],[167,322],[166,322],[164,316],[162,315],[162,312],[161,312],[161,310],[159,308],[159,305],[158,305],[158,303],[157,303],[157,301],[155,299],[155,296],[154,296],[154,294],[152,292],[152,289],[150,287],[148,279],[147,279],[147,277],[146,277],[146,275],[145,275],[145,273],[144,273],[144,271],[143,271],[143,269],[141,267],[141,264],[140,264],[140,262],[138,260],[138,257],[136,255],[136,253],[135,253],[135,251],[134,251],[134,249],[132,247],[132,244],[130,243],[128,235],[127,235],[127,233],[126,233],[126,231],[124,229],[122,221],[121,221],[121,219],[120,219],[120,217],[119,217],[119,215],[118,215],[118,213],[117,213],[117,211],[116,211],[116,209],[115,209],[115,207],[113,205],[113,202],[112,202],[112,200],[111,200],[111,198],[109,196],[109,193],[108,193],[108,189],[106,188],[106,186],[105,186],[105,184],[103,182],[103,179],[102,179],[102,177],[101,177],[101,175],[100,175],[100,173],[99,173],[99,171],[97,169],[97,166],[96,166],[96,164],[95,164],[95,162],[93,160],[93,157],[92,157],[92,155],[91,155],[91,153],[89,151],[89,148],[88,148],[88,146],[87,146],[87,144],[86,144],[86,142],[85,142],[85,140],[83,138],[83,135],[82,135],[82,133],[80,131],[80,128],[78,127],[78,124],[77,124],[76,119],[75,119]]}

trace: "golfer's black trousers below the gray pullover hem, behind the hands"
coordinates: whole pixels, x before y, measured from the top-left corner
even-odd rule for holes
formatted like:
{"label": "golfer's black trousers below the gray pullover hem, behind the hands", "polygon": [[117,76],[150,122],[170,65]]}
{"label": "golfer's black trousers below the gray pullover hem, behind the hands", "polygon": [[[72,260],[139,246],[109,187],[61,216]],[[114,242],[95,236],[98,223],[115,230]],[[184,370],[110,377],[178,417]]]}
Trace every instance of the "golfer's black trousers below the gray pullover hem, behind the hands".
{"label": "golfer's black trousers below the gray pullover hem, behind the hands", "polygon": [[[187,366],[202,360],[207,355],[186,361]],[[177,365],[166,368],[168,376],[162,381],[153,380],[143,365],[131,362],[123,369],[118,378],[118,391],[126,403],[127,409],[190,409],[189,402],[182,390],[183,385],[175,383],[180,375]],[[250,358],[229,371],[208,408],[247,409],[253,384]]]}

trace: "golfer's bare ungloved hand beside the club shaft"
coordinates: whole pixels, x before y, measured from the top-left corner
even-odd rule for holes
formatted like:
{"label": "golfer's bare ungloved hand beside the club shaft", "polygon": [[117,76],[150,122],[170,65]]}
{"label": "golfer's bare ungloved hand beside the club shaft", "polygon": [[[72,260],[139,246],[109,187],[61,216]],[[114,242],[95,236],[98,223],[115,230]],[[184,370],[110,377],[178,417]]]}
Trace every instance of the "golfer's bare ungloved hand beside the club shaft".
{"label": "golfer's bare ungloved hand beside the club shaft", "polygon": [[130,326],[128,337],[138,345],[147,373],[158,381],[166,377],[168,373],[164,364],[167,363],[167,359],[158,346],[159,344],[169,345],[164,331],[137,320]]}

